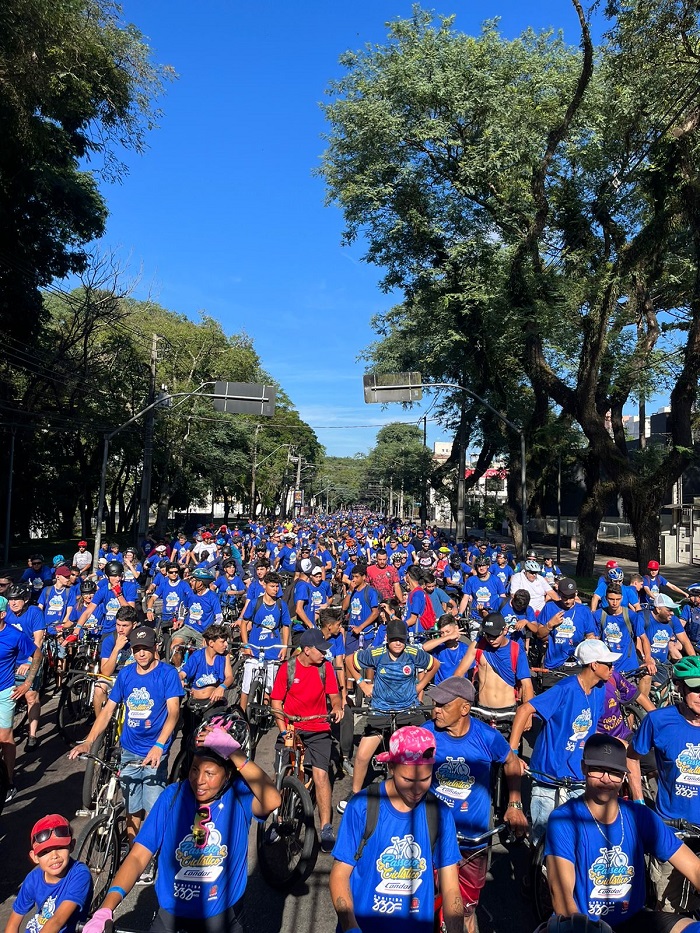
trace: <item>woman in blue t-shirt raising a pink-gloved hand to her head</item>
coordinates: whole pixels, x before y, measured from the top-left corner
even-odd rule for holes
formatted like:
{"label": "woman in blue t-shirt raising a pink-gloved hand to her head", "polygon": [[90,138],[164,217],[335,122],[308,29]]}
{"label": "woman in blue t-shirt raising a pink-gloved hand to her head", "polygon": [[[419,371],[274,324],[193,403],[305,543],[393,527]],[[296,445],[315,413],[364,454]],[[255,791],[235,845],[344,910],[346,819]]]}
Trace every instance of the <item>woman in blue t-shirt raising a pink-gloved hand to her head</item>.
{"label": "woman in blue t-shirt raising a pink-gloved hand to her head", "polygon": [[150,933],[243,933],[251,820],[266,819],[282,801],[242,751],[241,720],[218,722],[197,735],[187,780],[171,784],[156,801],[83,933],[104,933],[155,856],[159,910]]}

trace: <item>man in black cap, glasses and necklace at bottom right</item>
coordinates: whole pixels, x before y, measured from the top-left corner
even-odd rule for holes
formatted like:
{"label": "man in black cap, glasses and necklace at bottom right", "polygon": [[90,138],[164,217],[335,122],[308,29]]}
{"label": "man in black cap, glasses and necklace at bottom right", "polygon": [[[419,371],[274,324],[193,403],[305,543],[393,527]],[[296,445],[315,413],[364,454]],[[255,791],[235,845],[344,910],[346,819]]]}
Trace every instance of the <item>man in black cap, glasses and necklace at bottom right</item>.
{"label": "man in black cap, glasses and necklace at bottom right", "polygon": [[645,854],[700,886],[700,860],[650,809],[619,797],[627,774],[625,746],[600,733],[585,743],[585,791],[553,811],[545,856],[557,914],[605,917],[616,933],[698,933],[680,914],[645,911]]}

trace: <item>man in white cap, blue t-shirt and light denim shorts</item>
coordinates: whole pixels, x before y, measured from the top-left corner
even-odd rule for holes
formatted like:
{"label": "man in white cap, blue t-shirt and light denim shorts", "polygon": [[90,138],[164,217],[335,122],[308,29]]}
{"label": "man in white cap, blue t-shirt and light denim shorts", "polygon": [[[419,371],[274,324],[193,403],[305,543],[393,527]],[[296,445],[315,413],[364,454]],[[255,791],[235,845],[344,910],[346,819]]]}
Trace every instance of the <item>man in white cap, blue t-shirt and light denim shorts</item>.
{"label": "man in white cap, blue t-shirt and light denim shorts", "polygon": [[[595,732],[604,712],[605,682],[620,657],[597,638],[582,641],[576,660],[583,665],[579,674],[565,677],[544,693],[523,703],[515,714],[510,747],[517,754],[525,728],[535,713],[544,721],[532,752],[530,768],[534,780],[530,815],[533,843],[544,835],[547,819],[555,803],[557,788],[550,781],[567,778],[583,783],[581,753],[586,739]],[[576,797],[582,788],[563,787],[566,798]]]}

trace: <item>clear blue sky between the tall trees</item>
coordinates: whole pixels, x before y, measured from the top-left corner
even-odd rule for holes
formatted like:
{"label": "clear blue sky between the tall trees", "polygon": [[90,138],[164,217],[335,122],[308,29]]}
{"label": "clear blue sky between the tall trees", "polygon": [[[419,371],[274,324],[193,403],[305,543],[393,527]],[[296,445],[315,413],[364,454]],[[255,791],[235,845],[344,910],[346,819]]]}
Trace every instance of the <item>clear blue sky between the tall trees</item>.
{"label": "clear blue sky between the tall trees", "polygon": [[[161,101],[160,128],[129,174],[105,186],[104,245],[139,275],[136,297],[189,316],[204,310],[227,333],[251,335],[330,455],[367,451],[377,426],[417,420],[363,402],[357,356],[369,321],[390,306],[362,244],[342,247],[342,217],[324,206],[312,171],[324,148],[319,103],[342,72],[339,56],[386,38],[408,0],[126,0],[124,15],[179,78]],[[578,42],[573,8],[515,0],[434,6],[477,32],[501,17],[508,37],[528,25]],[[232,374],[232,377],[235,374]],[[423,408],[427,408],[427,400]],[[428,442],[448,440],[430,424]]]}

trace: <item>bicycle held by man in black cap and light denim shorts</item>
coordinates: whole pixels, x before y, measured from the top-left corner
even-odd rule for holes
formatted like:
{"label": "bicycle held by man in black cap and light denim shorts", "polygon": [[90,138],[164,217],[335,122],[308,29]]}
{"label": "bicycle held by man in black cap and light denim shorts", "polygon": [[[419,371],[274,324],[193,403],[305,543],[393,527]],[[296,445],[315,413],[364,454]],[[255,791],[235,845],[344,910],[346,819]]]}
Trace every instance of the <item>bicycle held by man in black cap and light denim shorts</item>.
{"label": "bicycle held by man in black cap and light denim shorts", "polygon": [[108,775],[96,800],[94,816],[87,822],[75,844],[74,857],[90,869],[93,895],[90,913],[104,900],[122,860],[128,854],[126,813],[119,785],[119,762],[107,762],[92,753],[80,756],[95,770]]}

